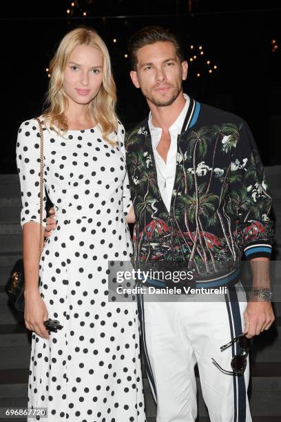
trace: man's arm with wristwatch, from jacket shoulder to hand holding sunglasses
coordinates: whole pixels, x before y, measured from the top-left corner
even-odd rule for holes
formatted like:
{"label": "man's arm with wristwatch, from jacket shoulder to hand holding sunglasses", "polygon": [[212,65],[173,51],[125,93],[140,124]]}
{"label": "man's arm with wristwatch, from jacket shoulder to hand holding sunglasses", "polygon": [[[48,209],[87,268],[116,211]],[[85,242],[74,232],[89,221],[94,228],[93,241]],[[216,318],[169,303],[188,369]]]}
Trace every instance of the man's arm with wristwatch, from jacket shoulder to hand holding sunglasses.
{"label": "man's arm with wristwatch, from jacket shoulder to hand holding sunglasses", "polygon": [[271,193],[258,148],[245,122],[240,127],[240,138],[237,148],[233,150],[232,159],[238,160],[240,166],[239,170],[233,170],[230,191],[237,208],[242,252],[249,261],[253,279],[250,300],[244,312],[244,332],[250,338],[268,330],[274,321],[270,301],[259,296],[260,289],[270,289],[269,260],[273,224],[269,218]]}

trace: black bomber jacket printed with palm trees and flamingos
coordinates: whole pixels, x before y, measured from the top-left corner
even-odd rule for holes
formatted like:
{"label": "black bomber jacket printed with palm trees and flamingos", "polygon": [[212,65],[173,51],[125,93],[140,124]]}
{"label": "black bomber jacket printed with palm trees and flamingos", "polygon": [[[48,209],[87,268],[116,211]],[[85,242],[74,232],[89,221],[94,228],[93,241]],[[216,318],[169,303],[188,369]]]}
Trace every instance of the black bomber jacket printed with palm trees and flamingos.
{"label": "black bomber jacket printed with palm trees and flamingos", "polygon": [[251,131],[236,115],[191,99],[177,144],[167,210],[148,119],[126,139],[136,214],[134,266],[192,270],[201,287],[235,283],[242,254],[270,258],[273,240],[271,194]]}

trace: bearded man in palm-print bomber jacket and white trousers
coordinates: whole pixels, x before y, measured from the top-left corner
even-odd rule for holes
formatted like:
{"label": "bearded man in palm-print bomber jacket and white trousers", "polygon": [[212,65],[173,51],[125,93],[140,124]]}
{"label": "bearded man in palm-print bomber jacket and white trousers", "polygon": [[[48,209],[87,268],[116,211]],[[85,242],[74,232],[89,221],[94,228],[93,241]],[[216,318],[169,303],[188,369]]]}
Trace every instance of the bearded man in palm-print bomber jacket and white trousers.
{"label": "bearded man in palm-print bomber jacket and white trousers", "polygon": [[[262,163],[247,123],[183,93],[187,61],[174,34],[143,28],[129,41],[129,52],[130,76],[150,109],[126,142],[135,268],[193,271],[192,283],[188,277],[183,283],[165,277],[145,283],[156,288],[228,288],[212,301],[200,301],[200,294],[166,301],[141,297],[143,352],[157,422],[195,421],[196,363],[211,421],[249,422],[249,339],[274,320],[271,197]],[[242,254],[251,260],[253,286],[259,288],[248,304],[237,293],[244,293]],[[237,354],[242,356],[233,358]]]}

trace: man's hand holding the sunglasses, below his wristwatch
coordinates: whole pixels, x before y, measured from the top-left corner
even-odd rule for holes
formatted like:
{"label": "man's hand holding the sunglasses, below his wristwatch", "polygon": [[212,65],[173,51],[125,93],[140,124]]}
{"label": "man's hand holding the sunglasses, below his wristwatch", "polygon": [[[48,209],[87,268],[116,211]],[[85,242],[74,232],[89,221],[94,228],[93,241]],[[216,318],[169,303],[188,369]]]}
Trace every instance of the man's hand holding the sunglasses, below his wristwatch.
{"label": "man's hand holding the sunglasses, below his wristwatch", "polygon": [[272,305],[263,299],[257,301],[250,301],[244,312],[244,334],[251,339],[253,336],[258,336],[264,330],[269,330],[275,320]]}

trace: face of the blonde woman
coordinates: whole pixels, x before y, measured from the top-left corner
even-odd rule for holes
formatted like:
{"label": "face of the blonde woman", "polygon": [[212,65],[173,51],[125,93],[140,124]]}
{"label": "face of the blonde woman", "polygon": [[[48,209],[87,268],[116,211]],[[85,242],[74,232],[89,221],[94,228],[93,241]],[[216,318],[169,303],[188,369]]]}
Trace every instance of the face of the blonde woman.
{"label": "face of the blonde woman", "polygon": [[63,72],[63,89],[76,104],[87,104],[96,97],[101,83],[103,59],[97,48],[76,46]]}

